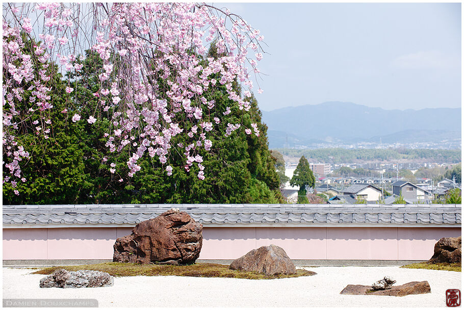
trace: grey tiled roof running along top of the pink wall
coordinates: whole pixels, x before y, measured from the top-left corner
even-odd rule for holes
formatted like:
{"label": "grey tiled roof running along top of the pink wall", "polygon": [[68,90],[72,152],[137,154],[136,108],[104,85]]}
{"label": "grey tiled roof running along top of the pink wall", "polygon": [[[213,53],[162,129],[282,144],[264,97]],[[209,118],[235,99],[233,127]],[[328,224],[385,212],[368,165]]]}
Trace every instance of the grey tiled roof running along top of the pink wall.
{"label": "grey tiled roof running along top of the pink wall", "polygon": [[205,224],[460,224],[460,204],[4,205],[3,225],[137,224],[172,208]]}

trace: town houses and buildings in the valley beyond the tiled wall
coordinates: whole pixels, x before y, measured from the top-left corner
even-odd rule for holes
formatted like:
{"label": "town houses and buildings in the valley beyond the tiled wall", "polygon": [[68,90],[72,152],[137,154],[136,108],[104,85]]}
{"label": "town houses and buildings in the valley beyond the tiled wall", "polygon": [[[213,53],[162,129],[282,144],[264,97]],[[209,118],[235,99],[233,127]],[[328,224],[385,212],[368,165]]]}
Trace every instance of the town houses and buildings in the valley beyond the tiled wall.
{"label": "town houses and buildings in the valley beyond the tiled wall", "polygon": [[[297,167],[295,160],[285,164],[289,178]],[[312,203],[389,204],[399,198],[404,204],[444,203],[450,190],[461,189],[461,165],[455,163],[310,163],[310,168],[316,180],[308,190]],[[281,193],[287,202],[296,203],[298,189],[287,182]]]}

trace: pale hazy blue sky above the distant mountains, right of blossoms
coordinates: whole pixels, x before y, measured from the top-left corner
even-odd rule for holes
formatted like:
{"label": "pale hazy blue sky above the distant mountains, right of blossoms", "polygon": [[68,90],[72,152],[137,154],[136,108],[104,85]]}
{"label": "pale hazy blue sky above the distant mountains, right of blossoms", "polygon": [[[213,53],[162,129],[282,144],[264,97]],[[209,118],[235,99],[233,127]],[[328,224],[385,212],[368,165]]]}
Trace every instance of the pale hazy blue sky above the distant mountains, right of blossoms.
{"label": "pale hazy blue sky above the distant mountains, right of blossoms", "polygon": [[461,106],[461,4],[232,3],[268,46],[264,111],[351,101],[383,109]]}

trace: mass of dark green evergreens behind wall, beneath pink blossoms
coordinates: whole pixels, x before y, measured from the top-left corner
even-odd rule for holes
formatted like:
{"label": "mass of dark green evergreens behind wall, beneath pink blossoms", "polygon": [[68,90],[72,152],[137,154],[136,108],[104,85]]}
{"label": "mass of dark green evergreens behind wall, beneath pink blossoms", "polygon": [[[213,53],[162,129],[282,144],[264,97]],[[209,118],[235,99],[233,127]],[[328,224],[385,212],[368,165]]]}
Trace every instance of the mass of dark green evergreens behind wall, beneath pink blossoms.
{"label": "mass of dark green evergreens behind wall, beneath pink blossoms", "polygon": [[[81,62],[78,60],[78,62]],[[261,112],[257,101],[251,98],[248,112],[232,108],[229,115],[223,116],[226,107],[232,105],[227,98],[225,86],[208,95],[215,100],[215,108],[209,111],[201,105],[204,114],[211,114],[214,125],[213,147],[210,151],[203,148],[205,168],[204,180],[197,177],[198,167],[190,171],[181,168],[185,159],[181,152],[172,152],[169,162],[174,167],[168,176],[158,159],[144,156],[138,164],[141,171],[133,177],[126,177],[128,149],[115,157],[105,146],[111,119],[100,110],[99,98],[93,94],[99,88],[98,74],[102,72],[101,60],[88,52],[82,61],[84,65],[80,76],[68,75],[67,80],[57,76],[54,94],[57,105],[62,100],[74,100],[74,110],[68,108],[66,115],[72,116],[79,111],[82,120],[71,123],[70,117],[64,117],[58,107],[50,116],[54,124],[53,140],[48,139],[43,148],[34,150],[31,161],[24,167],[30,182],[21,184],[20,195],[13,193],[11,185],[5,184],[3,190],[6,204],[53,204],[53,203],[279,203],[283,197],[279,191],[279,178],[275,172],[275,159],[268,149],[267,126],[261,123]],[[114,65],[118,65],[115,63]],[[53,75],[55,76],[55,75]],[[109,81],[114,79],[110,76]],[[76,91],[71,96],[64,88],[70,83]],[[236,85],[239,89],[238,85]],[[83,111],[81,104],[86,102]],[[63,105],[64,107],[64,105]],[[108,115],[110,115],[108,111]],[[97,121],[89,124],[86,120],[99,113]],[[221,114],[222,122],[213,121]],[[246,135],[244,130],[225,137],[227,123],[248,124],[253,119],[261,134]],[[34,137],[24,136],[22,139]],[[179,141],[180,142],[180,141]],[[110,161],[116,164],[121,175],[110,172]],[[122,179],[122,182],[120,182]]]}

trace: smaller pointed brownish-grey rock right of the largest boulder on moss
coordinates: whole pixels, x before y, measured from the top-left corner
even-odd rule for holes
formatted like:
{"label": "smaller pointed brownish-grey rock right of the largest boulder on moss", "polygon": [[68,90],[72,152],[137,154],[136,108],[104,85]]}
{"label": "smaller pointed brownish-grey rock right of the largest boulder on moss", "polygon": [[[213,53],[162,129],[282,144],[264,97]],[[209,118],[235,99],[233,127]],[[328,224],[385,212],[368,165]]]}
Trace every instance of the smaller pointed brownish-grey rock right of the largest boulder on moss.
{"label": "smaller pointed brownish-grey rock right of the largest boulder on moss", "polygon": [[287,253],[273,244],[249,251],[233,261],[230,269],[256,271],[266,275],[296,273],[295,265]]}

